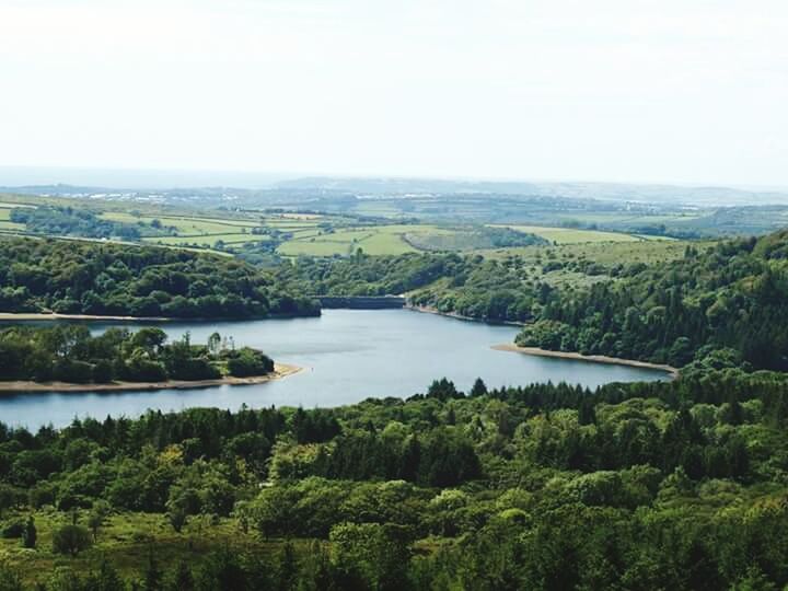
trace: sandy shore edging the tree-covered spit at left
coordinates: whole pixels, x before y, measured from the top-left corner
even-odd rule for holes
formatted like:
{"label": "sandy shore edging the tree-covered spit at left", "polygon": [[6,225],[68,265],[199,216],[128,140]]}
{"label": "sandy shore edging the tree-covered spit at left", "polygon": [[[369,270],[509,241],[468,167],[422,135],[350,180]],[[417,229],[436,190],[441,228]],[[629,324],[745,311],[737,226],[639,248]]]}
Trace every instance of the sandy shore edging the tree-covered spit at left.
{"label": "sandy shore edging the tree-covered spit at left", "polygon": [[275,363],[274,372],[266,375],[250,378],[220,378],[218,380],[170,380],[167,382],[113,382],[111,384],[71,384],[67,382],[0,382],[0,393],[36,393],[36,392],[129,392],[151,390],[186,390],[192,387],[215,387],[220,385],[263,384],[273,380],[281,380],[298,373],[303,368],[287,363]]}

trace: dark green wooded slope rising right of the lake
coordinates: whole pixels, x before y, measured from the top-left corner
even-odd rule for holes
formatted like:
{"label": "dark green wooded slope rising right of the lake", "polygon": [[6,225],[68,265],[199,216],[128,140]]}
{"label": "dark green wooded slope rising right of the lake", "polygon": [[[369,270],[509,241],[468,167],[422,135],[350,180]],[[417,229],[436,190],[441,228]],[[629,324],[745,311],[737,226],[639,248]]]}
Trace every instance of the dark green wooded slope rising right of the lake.
{"label": "dark green wooded slope rising right of the lake", "polygon": [[[518,343],[684,366],[788,370],[788,231],[559,292]],[[704,361],[705,360],[705,361]]]}

